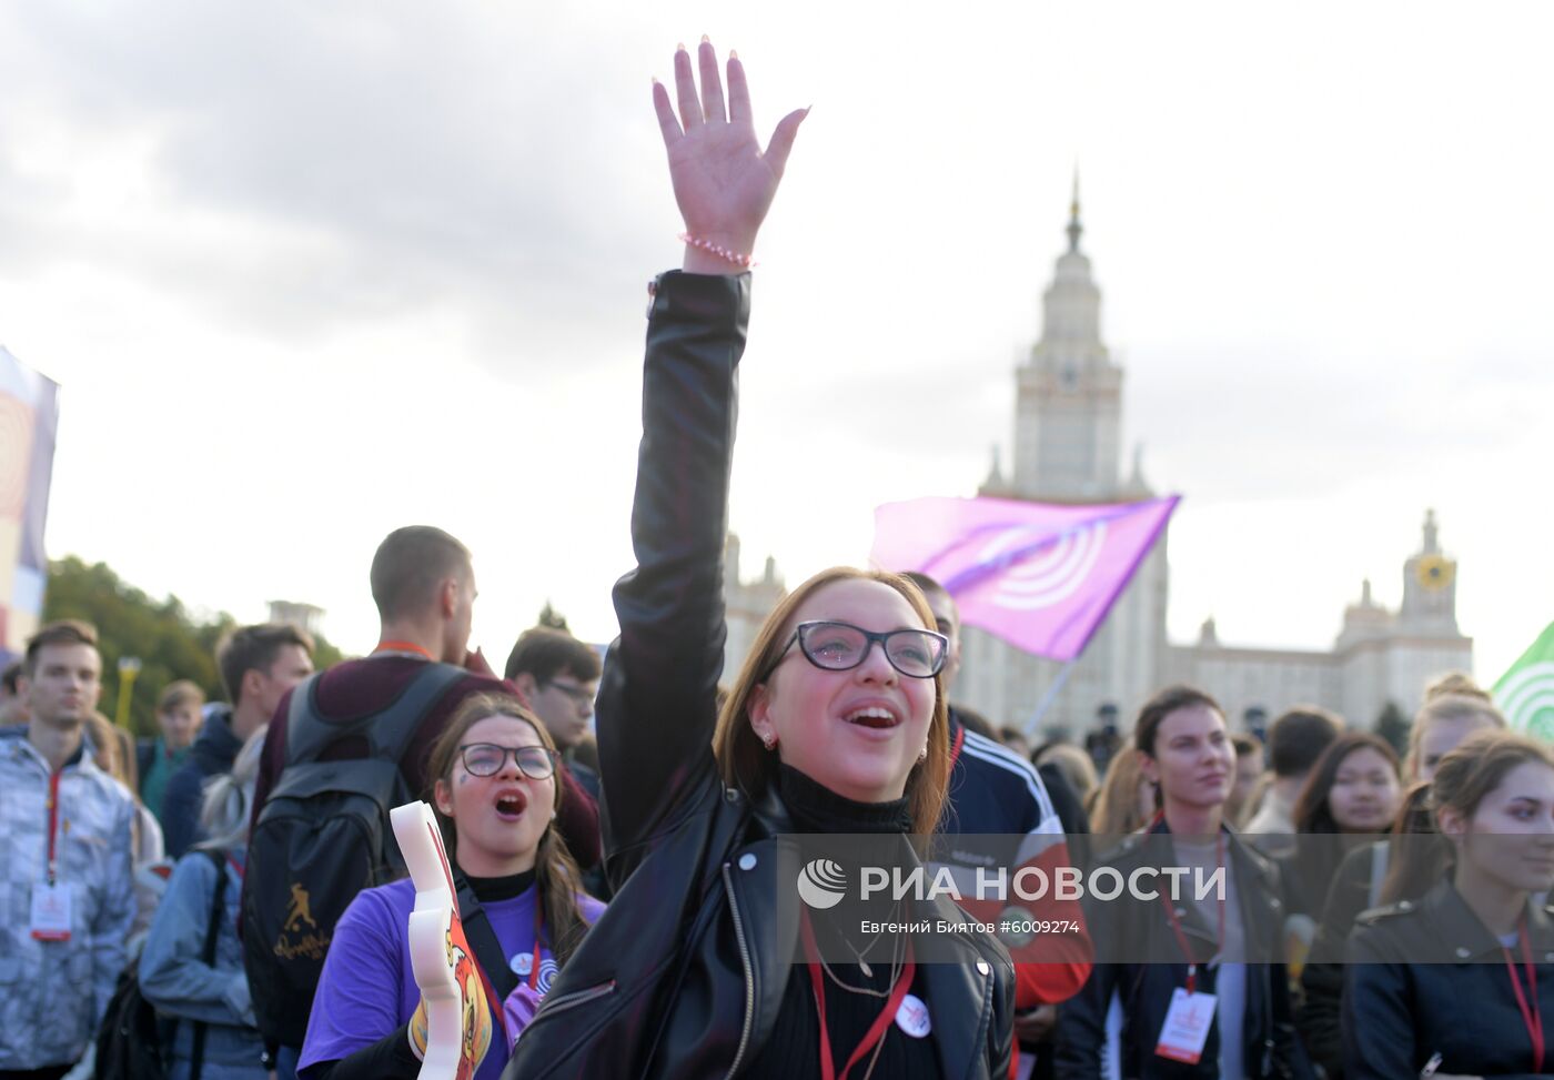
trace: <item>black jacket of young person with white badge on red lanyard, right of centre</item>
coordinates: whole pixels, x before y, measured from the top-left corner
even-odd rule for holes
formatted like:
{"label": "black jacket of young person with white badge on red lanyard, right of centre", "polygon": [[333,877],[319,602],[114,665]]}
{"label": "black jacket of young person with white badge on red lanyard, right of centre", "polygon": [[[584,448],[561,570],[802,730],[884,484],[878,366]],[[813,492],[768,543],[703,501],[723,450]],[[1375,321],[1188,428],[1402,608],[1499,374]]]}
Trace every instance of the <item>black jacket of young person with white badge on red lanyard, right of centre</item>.
{"label": "black jacket of young person with white badge on red lanyard, right of centre", "polygon": [[[1164,834],[1164,822],[1152,834]],[[1277,951],[1284,926],[1277,869],[1226,830],[1226,858],[1235,873],[1242,926],[1249,956]],[[1110,866],[1127,881],[1133,870],[1158,862],[1144,834],[1130,836],[1097,866]],[[1158,841],[1156,841],[1158,844]],[[1200,988],[1214,990],[1214,968],[1207,960],[1215,951],[1215,929],[1207,926],[1193,904],[1176,908],[1183,934],[1198,960]],[[1094,1080],[1100,1075],[1100,1055],[1106,1040],[1106,1009],[1116,991],[1122,1002],[1122,1077],[1125,1080],[1211,1080],[1220,1075],[1218,1021],[1209,1032],[1198,1064],[1184,1064],[1155,1052],[1172,993],[1187,984],[1187,962],[1159,900],[1131,900],[1127,892],[1111,901],[1086,903],[1085,918],[1097,956],[1170,957],[1153,963],[1096,963],[1089,982],[1058,1007],[1058,1050],[1055,1075],[1063,1080]],[[1178,959],[1179,957],[1179,959]],[[1232,957],[1234,959],[1234,957]],[[1246,999],[1242,1030],[1242,1063],[1248,1077],[1312,1075],[1310,1064],[1294,1035],[1290,990],[1282,963],[1246,965]]]}

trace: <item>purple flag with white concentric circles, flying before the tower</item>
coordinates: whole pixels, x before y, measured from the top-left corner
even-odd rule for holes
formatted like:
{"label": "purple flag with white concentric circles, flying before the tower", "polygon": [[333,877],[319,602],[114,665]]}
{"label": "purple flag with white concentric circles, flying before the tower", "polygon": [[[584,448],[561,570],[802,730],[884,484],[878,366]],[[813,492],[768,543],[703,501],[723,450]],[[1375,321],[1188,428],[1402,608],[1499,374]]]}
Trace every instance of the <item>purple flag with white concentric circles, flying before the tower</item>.
{"label": "purple flag with white concentric circles, flying before the tower", "polygon": [[870,559],[942,583],[960,620],[1072,660],[1148,555],[1181,496],[1106,507],[914,499],[875,510]]}

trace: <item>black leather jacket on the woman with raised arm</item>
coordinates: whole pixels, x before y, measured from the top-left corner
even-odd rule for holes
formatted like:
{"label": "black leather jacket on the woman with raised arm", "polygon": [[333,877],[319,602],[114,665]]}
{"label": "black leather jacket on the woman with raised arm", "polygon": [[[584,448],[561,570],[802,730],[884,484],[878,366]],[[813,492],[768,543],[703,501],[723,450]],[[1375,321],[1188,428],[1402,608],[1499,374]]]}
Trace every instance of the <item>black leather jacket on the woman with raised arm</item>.
{"label": "black leather jacket on the woman with raised arm", "polygon": [[[786,811],[726,789],[712,755],[723,542],[749,275],[665,273],[648,323],[643,435],[598,693],[605,845],[618,892],[519,1040],[519,1077],[729,1077],[765,1046],[796,970],[800,862]],[[779,903],[779,897],[788,903]],[[942,900],[929,917],[957,921]],[[1013,967],[987,937],[925,963],[945,1077],[1009,1072]],[[802,968],[799,968],[802,977]]]}

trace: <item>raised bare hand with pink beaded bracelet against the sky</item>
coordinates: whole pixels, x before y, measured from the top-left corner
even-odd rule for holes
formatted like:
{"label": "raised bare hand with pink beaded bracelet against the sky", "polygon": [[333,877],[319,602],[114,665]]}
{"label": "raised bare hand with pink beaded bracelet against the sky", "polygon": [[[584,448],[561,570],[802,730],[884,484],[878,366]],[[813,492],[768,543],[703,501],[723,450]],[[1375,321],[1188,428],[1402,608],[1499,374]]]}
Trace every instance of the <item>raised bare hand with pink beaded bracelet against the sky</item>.
{"label": "raised bare hand with pink beaded bracelet against the sky", "polygon": [[[751,92],[744,65],[729,54],[729,99],[724,106],[718,54],[702,39],[696,50],[701,68],[701,96],[692,75],[690,53],[682,45],[674,54],[674,104],[668,89],[654,81],[653,107],[659,113],[664,148],[670,155],[670,179],[685,232],[707,244],[749,255],[755,250],[766,211],[777,194],[788,152],[808,109],[789,112],[777,123],[761,152],[751,117]],[[738,273],[737,263],[687,246],[685,269],[695,273]]]}

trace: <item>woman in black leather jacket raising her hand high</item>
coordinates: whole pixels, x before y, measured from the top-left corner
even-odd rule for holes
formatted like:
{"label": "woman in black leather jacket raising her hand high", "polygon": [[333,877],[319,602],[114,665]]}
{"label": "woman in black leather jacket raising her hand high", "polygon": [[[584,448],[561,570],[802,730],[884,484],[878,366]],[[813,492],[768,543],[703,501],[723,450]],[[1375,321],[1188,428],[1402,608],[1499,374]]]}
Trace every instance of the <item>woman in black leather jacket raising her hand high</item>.
{"label": "woman in black leather jacket raising her hand high", "polygon": [[[956,962],[917,963],[894,932],[858,940],[856,923],[800,917],[799,867],[777,839],[875,833],[900,848],[932,833],[946,642],[922,594],[890,573],[816,575],[779,603],[716,707],[744,270],[805,113],[763,152],[740,61],[724,103],[706,40],[676,54],[673,101],[656,85],[654,106],[687,247],[650,309],[637,567],[615,586],[620,639],[597,705],[618,892],[507,1078],[1004,1077],[1002,948],[946,935]],[[948,900],[926,914],[962,920]],[[856,962],[825,962],[821,945]]]}

